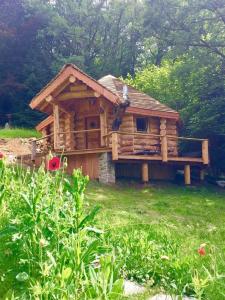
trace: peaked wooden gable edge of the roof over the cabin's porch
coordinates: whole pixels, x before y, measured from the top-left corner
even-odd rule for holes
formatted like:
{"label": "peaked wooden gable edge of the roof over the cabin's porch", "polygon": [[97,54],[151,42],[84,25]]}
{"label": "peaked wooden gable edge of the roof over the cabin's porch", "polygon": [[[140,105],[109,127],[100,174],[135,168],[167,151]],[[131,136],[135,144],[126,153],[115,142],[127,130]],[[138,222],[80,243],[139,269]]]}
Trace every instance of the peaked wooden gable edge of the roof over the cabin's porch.
{"label": "peaked wooden gable edge of the roof over the cabin's porch", "polygon": [[[93,89],[96,93],[98,93],[100,96],[105,97],[107,100],[109,100],[112,104],[118,105],[120,104],[119,96],[104,87],[102,84],[100,84],[98,81],[94,80],[90,76],[88,76],[86,73],[81,71],[79,68],[77,68],[75,65],[68,64],[65,65],[61,71],[56,75],[55,78],[52,79],[52,81],[49,82],[30,102],[30,107],[32,109],[38,109],[41,110],[41,106],[43,104],[48,105],[48,98],[52,97],[54,93],[57,92],[57,90],[60,90],[60,87],[63,87],[63,89],[67,86],[67,84],[70,84],[70,78],[71,76],[75,79],[78,79],[82,81],[84,84],[86,84],[88,87]],[[47,99],[47,100],[46,100]]]}

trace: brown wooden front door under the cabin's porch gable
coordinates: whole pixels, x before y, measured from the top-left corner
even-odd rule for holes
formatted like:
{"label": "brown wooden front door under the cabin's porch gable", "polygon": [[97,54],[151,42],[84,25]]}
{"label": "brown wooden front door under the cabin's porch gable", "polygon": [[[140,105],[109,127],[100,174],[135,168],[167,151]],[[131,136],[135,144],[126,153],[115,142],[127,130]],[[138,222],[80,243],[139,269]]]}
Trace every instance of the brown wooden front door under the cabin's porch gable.
{"label": "brown wooden front door under the cabin's porch gable", "polygon": [[[86,117],[85,118],[85,129],[86,130],[100,129],[100,117],[99,116]],[[86,132],[86,148],[87,149],[99,148],[100,140],[101,140],[100,130]]]}

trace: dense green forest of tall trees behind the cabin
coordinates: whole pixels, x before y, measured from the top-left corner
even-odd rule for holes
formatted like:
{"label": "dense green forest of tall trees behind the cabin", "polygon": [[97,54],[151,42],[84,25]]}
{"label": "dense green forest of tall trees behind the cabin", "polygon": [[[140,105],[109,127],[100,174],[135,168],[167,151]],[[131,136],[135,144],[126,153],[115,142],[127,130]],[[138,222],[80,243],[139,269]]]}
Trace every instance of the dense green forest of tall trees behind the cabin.
{"label": "dense green forest of tall trees behind the cabin", "polygon": [[0,125],[37,123],[29,100],[68,62],[175,108],[225,165],[224,0],[1,0]]}

